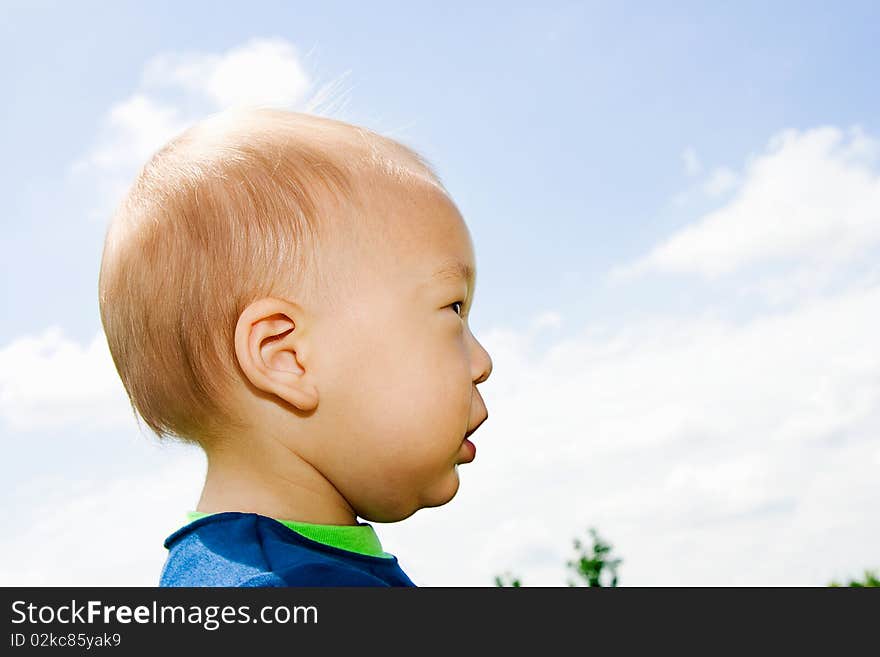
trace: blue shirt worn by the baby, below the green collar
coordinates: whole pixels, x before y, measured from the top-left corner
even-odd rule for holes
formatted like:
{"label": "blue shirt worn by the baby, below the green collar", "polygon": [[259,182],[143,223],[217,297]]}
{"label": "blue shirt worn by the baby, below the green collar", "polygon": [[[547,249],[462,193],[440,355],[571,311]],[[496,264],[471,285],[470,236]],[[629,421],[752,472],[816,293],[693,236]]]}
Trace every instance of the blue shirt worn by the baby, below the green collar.
{"label": "blue shirt worn by the baby, below the green collar", "polygon": [[165,547],[159,586],[415,586],[393,555],[319,543],[256,513],[199,518]]}

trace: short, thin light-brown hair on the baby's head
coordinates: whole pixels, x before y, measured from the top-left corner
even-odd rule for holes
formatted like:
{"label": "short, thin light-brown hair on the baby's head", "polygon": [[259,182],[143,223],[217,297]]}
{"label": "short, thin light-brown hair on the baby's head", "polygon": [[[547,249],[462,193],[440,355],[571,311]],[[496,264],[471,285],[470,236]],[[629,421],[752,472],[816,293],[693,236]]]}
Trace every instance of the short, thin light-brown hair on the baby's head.
{"label": "short, thin light-brown hair on the baby's head", "polygon": [[141,168],[108,227],[98,288],[116,370],[156,436],[204,446],[246,426],[229,403],[238,317],[264,296],[333,296],[342,282],[318,249],[356,221],[342,208],[358,204],[365,173],[446,191],[398,142],[269,108],[212,115]]}

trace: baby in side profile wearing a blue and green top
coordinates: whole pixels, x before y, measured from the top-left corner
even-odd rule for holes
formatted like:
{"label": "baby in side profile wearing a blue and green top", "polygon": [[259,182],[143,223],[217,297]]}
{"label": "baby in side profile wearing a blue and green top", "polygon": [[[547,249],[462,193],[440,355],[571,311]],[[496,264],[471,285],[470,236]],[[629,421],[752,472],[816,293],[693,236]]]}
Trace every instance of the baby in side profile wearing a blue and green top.
{"label": "baby in side profile wearing a blue and green top", "polygon": [[449,502],[488,417],[467,226],[430,165],[341,121],[212,115],[107,231],[101,321],[160,439],[207,474],[160,586],[414,586],[374,522]]}

